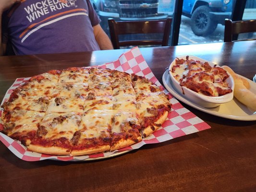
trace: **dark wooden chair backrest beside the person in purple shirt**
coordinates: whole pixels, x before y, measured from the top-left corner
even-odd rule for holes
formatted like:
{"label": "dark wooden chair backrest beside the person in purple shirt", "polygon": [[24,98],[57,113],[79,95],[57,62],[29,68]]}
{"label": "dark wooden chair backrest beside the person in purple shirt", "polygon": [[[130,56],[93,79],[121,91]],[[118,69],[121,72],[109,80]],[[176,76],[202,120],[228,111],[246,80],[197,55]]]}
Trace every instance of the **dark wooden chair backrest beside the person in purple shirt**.
{"label": "dark wooden chair backrest beside the person in purple shirt", "polygon": [[[167,46],[171,32],[171,20],[154,20],[154,21],[115,21],[108,19],[110,27],[110,38],[114,49],[120,46],[138,46],[138,45],[161,45]],[[120,41],[119,35],[125,34],[163,34],[162,40],[125,40]]]}

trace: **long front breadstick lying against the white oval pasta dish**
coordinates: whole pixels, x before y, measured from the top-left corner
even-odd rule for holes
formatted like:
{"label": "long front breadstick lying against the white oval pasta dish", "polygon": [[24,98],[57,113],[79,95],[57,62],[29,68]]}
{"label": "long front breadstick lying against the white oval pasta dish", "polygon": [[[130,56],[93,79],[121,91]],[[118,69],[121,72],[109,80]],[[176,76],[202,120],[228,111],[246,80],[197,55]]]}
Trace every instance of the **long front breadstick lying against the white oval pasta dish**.
{"label": "long front breadstick lying against the white oval pasta dish", "polygon": [[234,79],[234,96],[237,98],[237,100],[246,105],[248,108],[252,108],[256,111],[256,94],[246,88],[243,80],[239,78],[230,67],[224,65],[222,68],[229,72]]}

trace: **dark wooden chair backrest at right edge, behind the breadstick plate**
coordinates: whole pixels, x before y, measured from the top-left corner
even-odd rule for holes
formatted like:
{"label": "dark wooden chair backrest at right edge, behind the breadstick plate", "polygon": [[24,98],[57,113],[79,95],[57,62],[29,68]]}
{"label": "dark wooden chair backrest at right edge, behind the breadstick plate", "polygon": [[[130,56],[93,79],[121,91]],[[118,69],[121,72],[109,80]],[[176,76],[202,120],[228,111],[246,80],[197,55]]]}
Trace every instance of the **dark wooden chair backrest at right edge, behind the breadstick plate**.
{"label": "dark wooden chair backrest at right edge, behind the breadstick plate", "polygon": [[233,35],[256,32],[256,20],[232,21],[225,19],[224,42],[232,42]]}

